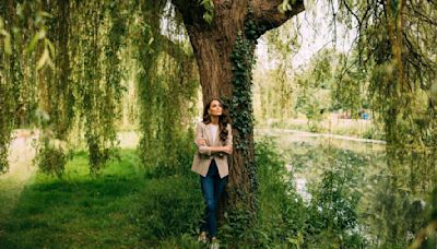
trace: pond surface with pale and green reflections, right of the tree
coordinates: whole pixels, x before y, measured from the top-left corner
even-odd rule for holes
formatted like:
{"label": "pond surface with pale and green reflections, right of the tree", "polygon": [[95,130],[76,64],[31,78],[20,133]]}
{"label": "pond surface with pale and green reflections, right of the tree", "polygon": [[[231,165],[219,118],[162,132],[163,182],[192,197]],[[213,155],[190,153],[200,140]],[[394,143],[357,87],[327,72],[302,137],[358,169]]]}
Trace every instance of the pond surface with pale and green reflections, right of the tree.
{"label": "pond surface with pale and green reflections, right of the tree", "polygon": [[381,141],[308,132],[258,130],[257,135],[274,138],[307,203],[327,173],[344,177],[344,186],[359,195],[356,229],[369,247],[404,248],[429,223],[436,180],[432,150],[392,149]]}

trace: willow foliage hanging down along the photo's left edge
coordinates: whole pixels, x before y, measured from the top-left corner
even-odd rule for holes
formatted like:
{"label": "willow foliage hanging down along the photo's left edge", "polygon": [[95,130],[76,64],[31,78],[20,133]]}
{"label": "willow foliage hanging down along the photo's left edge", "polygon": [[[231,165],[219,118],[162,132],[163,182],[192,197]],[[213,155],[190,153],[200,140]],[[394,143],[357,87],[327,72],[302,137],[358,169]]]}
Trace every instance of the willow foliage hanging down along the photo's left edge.
{"label": "willow foliage hanging down along the photo's left edge", "polygon": [[[49,51],[51,43],[46,36],[48,16],[49,14],[42,10],[40,1],[24,1],[23,3],[2,1],[0,3],[1,44],[3,45],[0,49],[1,173],[8,170],[7,157],[12,129],[28,127],[33,119],[31,112],[36,110],[37,75],[33,69],[51,61]],[[40,59],[36,61],[36,57]]]}

